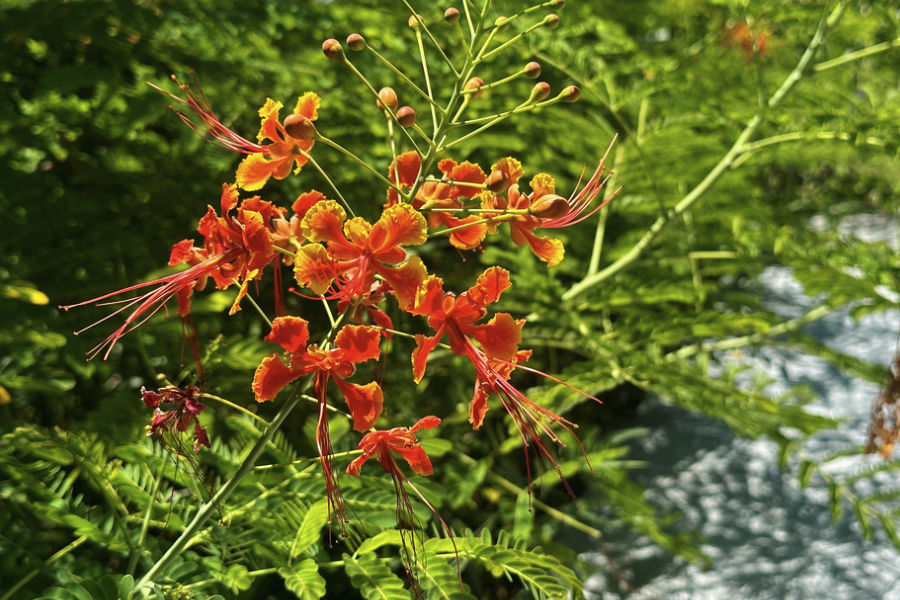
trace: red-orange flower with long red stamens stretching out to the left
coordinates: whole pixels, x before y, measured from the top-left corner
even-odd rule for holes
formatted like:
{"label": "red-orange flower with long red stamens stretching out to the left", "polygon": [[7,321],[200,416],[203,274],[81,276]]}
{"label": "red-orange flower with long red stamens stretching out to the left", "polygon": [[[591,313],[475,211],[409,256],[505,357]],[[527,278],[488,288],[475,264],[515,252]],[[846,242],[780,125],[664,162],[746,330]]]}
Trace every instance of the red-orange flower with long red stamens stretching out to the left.
{"label": "red-orange flower with long red stamens stretching out to the left", "polygon": [[125,318],[125,322],[88,353],[89,358],[103,352],[103,358],[106,359],[122,336],[146,322],[163,309],[173,297],[178,301],[178,314],[183,319],[188,319],[191,295],[195,289],[203,289],[209,277],[212,277],[219,289],[240,283],[241,288],[229,314],[241,309],[240,302],[246,296],[250,282],[259,279],[265,265],[272,262],[275,257],[271,221],[282,216],[283,211],[269,202],[254,197],[244,200],[237,211],[237,216],[232,216],[230,211],[237,207],[238,201],[237,186],[224,184],[221,197],[222,216],[216,215],[212,207],[207,207],[207,213],[200,219],[197,227],[197,231],[204,238],[203,248],[194,247],[192,240],[178,242],[172,247],[169,266],[187,264],[188,269],[92,300],[60,306],[63,310],[69,310],[76,306],[99,303],[101,300],[134,290],[153,288],[135,298],[104,303],[122,306],[114,313],[77,332],[86,331],[114,315],[133,308]]}

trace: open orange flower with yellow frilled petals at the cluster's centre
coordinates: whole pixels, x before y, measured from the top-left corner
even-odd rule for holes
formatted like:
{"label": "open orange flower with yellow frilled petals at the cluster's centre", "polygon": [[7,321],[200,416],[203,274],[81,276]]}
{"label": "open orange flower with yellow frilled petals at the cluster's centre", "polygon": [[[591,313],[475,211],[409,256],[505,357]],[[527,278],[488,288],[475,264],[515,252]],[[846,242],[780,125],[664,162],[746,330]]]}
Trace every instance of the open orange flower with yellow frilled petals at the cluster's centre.
{"label": "open orange flower with yellow frilled petals at the cluster's centre", "polygon": [[417,256],[407,259],[403,246],[418,246],[427,239],[425,218],[413,207],[391,206],[371,225],[360,217],[348,221],[343,208],[324,200],[309,209],[301,225],[312,243],[294,258],[300,285],[332,299],[360,299],[371,293],[377,274],[401,307],[413,302],[426,276],[425,265]]}

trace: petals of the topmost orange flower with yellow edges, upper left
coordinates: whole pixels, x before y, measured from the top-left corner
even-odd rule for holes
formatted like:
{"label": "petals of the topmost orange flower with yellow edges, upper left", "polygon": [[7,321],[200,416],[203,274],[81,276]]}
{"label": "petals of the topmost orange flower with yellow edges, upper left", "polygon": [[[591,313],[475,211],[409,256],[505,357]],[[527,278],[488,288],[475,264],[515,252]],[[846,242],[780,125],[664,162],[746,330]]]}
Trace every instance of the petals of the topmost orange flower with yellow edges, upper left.
{"label": "petals of the topmost orange flower with yellow edges, upper left", "polygon": [[[302,138],[310,137],[300,132],[301,130],[309,131],[307,128],[293,128],[288,121],[291,119],[301,123],[315,121],[319,118],[320,103],[321,98],[315,92],[306,92],[300,96],[294,112],[285,119],[285,124],[291,129],[291,133],[300,135]],[[307,158],[303,154],[308,154],[315,142],[312,139],[292,137],[288,133],[285,124],[278,121],[278,113],[283,106],[281,102],[275,102],[269,98],[259,109],[262,124],[256,137],[260,144],[265,140],[270,141],[271,144],[263,146],[264,151],[254,152],[241,161],[237,170],[237,183],[242,189],[258,190],[266,184],[270,177],[284,179],[290,175],[292,169],[294,174],[297,174],[307,162]]]}

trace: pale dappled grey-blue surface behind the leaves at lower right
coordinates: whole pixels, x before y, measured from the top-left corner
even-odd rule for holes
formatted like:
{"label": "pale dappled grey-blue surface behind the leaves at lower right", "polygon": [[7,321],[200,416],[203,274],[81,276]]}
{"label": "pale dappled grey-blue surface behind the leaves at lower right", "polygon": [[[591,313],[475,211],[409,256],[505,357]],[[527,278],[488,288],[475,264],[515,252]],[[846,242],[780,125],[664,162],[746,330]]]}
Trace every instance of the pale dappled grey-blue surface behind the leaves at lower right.
{"label": "pale dappled grey-blue surface behind the leaves at lower right", "polygon": [[[893,221],[875,215],[845,220],[840,231],[896,244]],[[785,317],[802,314],[815,302],[802,293],[789,269],[770,268],[761,283],[768,307]],[[900,315],[881,313],[854,321],[842,311],[805,331],[832,348],[886,366],[897,344]],[[806,451],[815,454],[865,443],[877,386],[848,378],[820,359],[782,349],[750,350],[738,360],[777,379],[770,393],[806,383],[820,396],[811,410],[844,419],[837,430],[818,434]],[[650,466],[633,476],[648,486],[652,503],[682,513],[679,528],[699,533],[703,550],[715,563],[704,571],[672,558],[646,538],[609,539],[610,556],[625,578],[640,588],[627,597],[900,599],[900,555],[880,526],[874,524],[873,541],[865,541],[848,507],[834,525],[827,485],[814,476],[802,490],[797,461],[785,471],[779,469],[774,443],[739,439],[721,422],[659,401],[645,402],[639,418],[653,434],[638,442],[632,458]],[[852,472],[878,460],[841,459],[830,463],[829,470]],[[900,477],[883,473],[875,481],[874,485],[895,487]],[[583,558],[601,567],[606,562],[600,553]],[[607,570],[599,571],[587,582],[588,597],[625,597]]]}

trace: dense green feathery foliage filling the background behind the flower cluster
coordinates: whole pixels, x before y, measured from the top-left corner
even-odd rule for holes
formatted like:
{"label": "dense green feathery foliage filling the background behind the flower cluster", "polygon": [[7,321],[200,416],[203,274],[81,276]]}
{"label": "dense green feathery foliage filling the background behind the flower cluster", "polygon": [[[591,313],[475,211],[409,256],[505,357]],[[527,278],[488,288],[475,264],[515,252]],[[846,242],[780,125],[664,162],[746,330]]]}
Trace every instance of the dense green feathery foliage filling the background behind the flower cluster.
{"label": "dense green feathery foliage filling the background behind the flower cluster", "polygon": [[[524,6],[498,3],[491,16],[513,14]],[[829,10],[833,6],[829,3]],[[439,21],[438,9],[427,3],[416,8],[461,63],[455,32]],[[898,8],[896,2],[849,2],[817,60],[895,40]],[[453,157],[487,169],[498,158],[513,155],[523,161],[527,175],[552,173],[568,193],[582,167],[592,168],[618,133],[616,182],[624,190],[608,212],[602,268],[623,256],[725,155],[760,112],[760,97],[770,97],[797,64],[825,9],[821,2],[774,0],[570,3],[560,12],[558,29],[536,31],[479,75],[490,82],[537,60],[544,67],[541,80],[554,90],[577,83],[581,102],[509,119],[458,146]],[[42,566],[84,534],[40,503],[108,523],[103,515],[109,507],[103,505],[109,498],[97,478],[101,473],[112,477],[121,468],[117,460],[148,476],[155,464],[122,451],[144,442],[150,415],[137,391],[152,385],[158,374],[184,381],[179,379],[184,376],[181,325],[174,316],[157,317],[140,334],[126,337],[108,361],[86,363],[85,353],[112,327],[104,323],[78,337],[71,332],[106,312],[54,308],[166,272],[161,268],[171,245],[192,235],[206,204],[216,205],[221,184],[233,178],[238,157],[191,133],[167,109],[171,100],[145,82],[175,92],[168,77],[174,73],[190,82],[193,69],[217,114],[246,137],[255,134],[256,110],[267,97],[290,106],[297,95],[315,91],[323,98],[320,131],[386,171],[390,148],[381,114],[362,83],[327,61],[319,48],[325,38],[359,32],[421,83],[418,50],[404,11],[402,4],[386,1],[0,2],[0,430],[7,434],[0,442],[0,595],[37,568],[37,576],[15,598],[35,597],[57,582],[125,572],[127,552],[99,534],[55,566]],[[747,23],[766,40],[760,53],[742,49],[735,40],[736,27]],[[393,85],[429,130],[427,106],[390,71],[368,56],[351,59],[376,88]],[[437,96],[445,100],[449,72],[434,53],[429,65]],[[770,398],[764,381],[736,383],[741,381],[739,366],[729,355],[712,352],[716,344],[733,339],[739,340],[731,342],[735,346],[790,344],[855,375],[881,379],[881,369],[825,348],[799,331],[773,335],[778,330],[772,327],[781,319],[764,309],[752,289],[763,268],[786,265],[810,295],[822,295],[823,307],[849,304],[854,316],[896,310],[889,293],[898,288],[896,252],[884,243],[842,238],[836,225],[847,215],[893,214],[896,209],[898,67],[900,53],[888,50],[808,73],[777,110],[762,111],[754,137],[797,133],[796,139],[745,153],[692,210],[672,219],[631,269],[576,302],[563,305],[560,297],[587,273],[596,218],[561,231],[566,260],[550,270],[527,249],[500,240],[486,244],[484,253],[466,253],[465,260],[443,240],[422,248],[430,270],[454,289],[470,285],[486,265],[510,268],[514,287],[500,308],[529,318],[525,345],[535,348],[534,366],[602,394],[603,406],[581,403],[564,388],[533,389],[531,394],[580,423],[579,435],[594,453],[598,475],[592,478],[583,475],[583,463],[575,460],[575,444],[561,451],[561,462],[572,460],[567,464],[576,492],[608,507],[596,515],[579,513],[578,518],[589,521],[587,530],[636,527],[673,552],[703,560],[688,536],[667,533],[668,517],[643,502],[641,490],[627,478],[633,465],[620,460],[624,440],[642,435],[634,429],[641,425],[634,407],[644,394],[706,412],[738,434],[767,435],[784,448],[785,461],[803,436],[832,425],[803,409],[815,402],[808,390]],[[532,84],[519,80],[486,93],[471,115],[520,103]],[[322,145],[315,154],[359,207],[357,212],[377,217],[384,201],[378,182]],[[611,153],[610,164],[616,154]],[[263,196],[287,206],[312,187],[327,189],[307,168],[299,177],[270,183]],[[811,229],[814,216],[827,226]],[[722,254],[694,254],[692,259],[697,252]],[[257,314],[245,310],[226,318],[231,297],[230,292],[200,295],[195,324],[201,340],[210,344],[204,346],[209,391],[250,405],[250,378],[271,349],[259,341],[265,327]],[[260,302],[271,312],[270,286],[262,287]],[[324,320],[318,306],[297,298],[290,299],[289,310],[314,323]],[[392,316],[399,329],[427,331],[408,315],[395,311]],[[704,340],[709,348],[698,345]],[[446,419],[440,437],[478,461],[473,469],[453,453],[436,459],[436,484],[463,489],[442,514],[458,531],[510,530],[529,547],[542,545],[580,572],[575,556],[559,544],[560,533],[571,535],[571,530],[541,510],[523,512],[521,494],[517,505],[517,496],[497,479],[520,488],[526,481],[521,448],[514,437],[504,443],[510,431],[502,409],[495,407],[485,428],[472,435],[465,423],[470,369],[450,355],[435,355],[428,378],[417,389],[407,367],[411,349],[407,340],[397,339],[384,365],[364,370],[384,369],[384,426],[436,414]],[[724,375],[709,376],[710,362],[726,363]],[[516,383],[522,389],[544,385],[528,376]],[[218,482],[230,469],[221,457],[228,452],[237,456],[252,435],[233,418],[226,419],[221,407],[213,408],[207,414],[215,413],[209,426],[218,447],[211,454],[219,458],[204,459],[204,464]],[[307,433],[312,408],[302,407],[285,426],[285,444],[299,456],[314,454]],[[276,409],[260,410],[271,416]],[[36,450],[70,444],[73,452],[71,440],[60,442],[63,434],[52,433],[57,427],[81,436],[88,448],[85,456],[99,465],[96,478],[85,476],[91,472],[87,466],[73,467],[71,460],[50,450]],[[355,446],[354,435],[338,432],[336,448]],[[141,447],[144,452],[150,448]],[[279,462],[277,456],[271,462]],[[827,475],[818,463],[801,465],[801,478],[808,480],[815,472]],[[152,479],[134,478],[139,487]],[[567,496],[548,479],[542,500],[571,513]],[[186,485],[176,482],[173,489]],[[833,484],[836,507],[844,502],[840,496],[845,489],[840,482]],[[141,514],[140,501],[126,501],[134,503],[129,504],[132,516]],[[891,505],[860,498],[848,504],[863,522],[881,520],[888,535],[895,535]],[[203,567],[214,573],[234,565],[250,571],[268,568],[273,563],[264,552],[231,547],[245,526],[250,523],[192,549],[194,560],[215,557],[218,566]],[[150,557],[174,539],[174,529],[152,529],[152,547],[138,574],[145,560],[152,564]],[[344,550],[318,547],[316,558],[338,560]],[[200,571],[185,575],[181,583],[209,579]],[[343,592],[354,597],[339,572],[323,574],[329,597]],[[466,577],[473,593],[482,597],[501,589],[504,594],[527,593],[520,580],[493,579],[490,569],[473,567]],[[202,590],[224,592],[231,584],[219,585]],[[242,580],[231,589],[246,588]],[[254,578],[243,594],[288,597],[276,575]]]}

